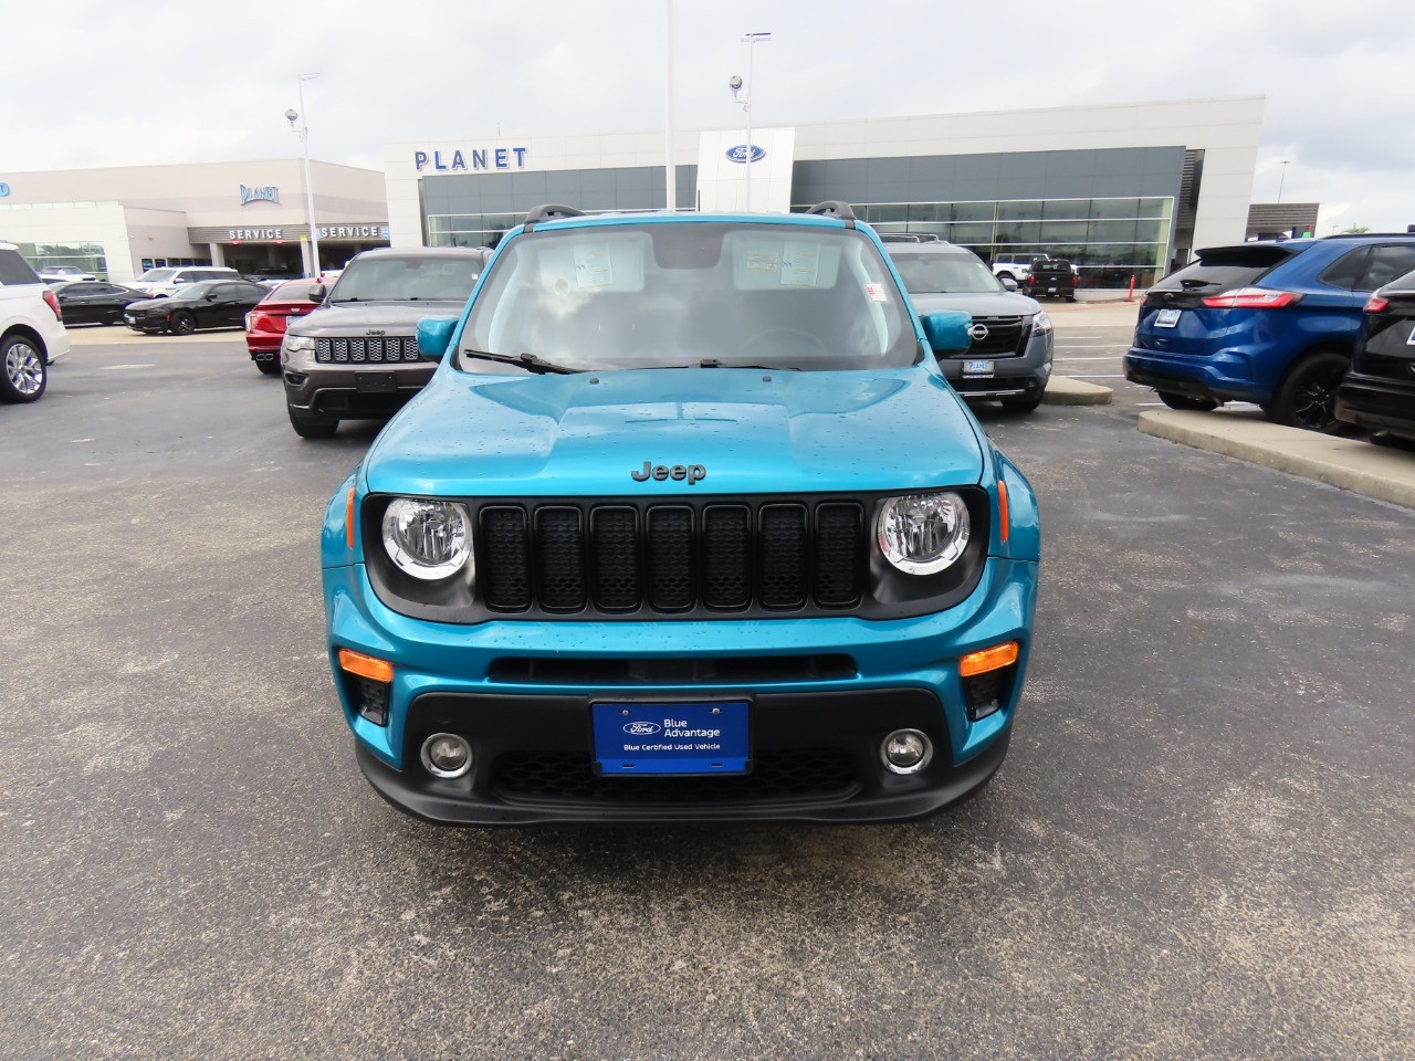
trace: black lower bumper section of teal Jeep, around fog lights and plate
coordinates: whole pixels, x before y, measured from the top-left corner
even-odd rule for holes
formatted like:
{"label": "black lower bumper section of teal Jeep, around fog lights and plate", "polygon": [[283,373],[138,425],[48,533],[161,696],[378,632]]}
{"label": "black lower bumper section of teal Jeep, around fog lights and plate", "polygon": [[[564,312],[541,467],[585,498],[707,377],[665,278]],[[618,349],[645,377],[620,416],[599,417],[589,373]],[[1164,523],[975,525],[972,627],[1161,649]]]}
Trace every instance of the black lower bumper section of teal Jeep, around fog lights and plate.
{"label": "black lower bumper section of teal Jeep, around fog lights and plate", "polygon": [[[437,825],[620,822],[894,822],[976,792],[1007,754],[1010,729],[949,761],[938,699],[925,689],[761,693],[751,697],[753,774],[599,777],[582,696],[429,695],[408,719],[402,771],[355,744],[369,784],[398,809]],[[918,774],[884,768],[880,741],[918,729],[934,758]],[[473,744],[474,768],[439,779],[419,747],[437,731]]]}

